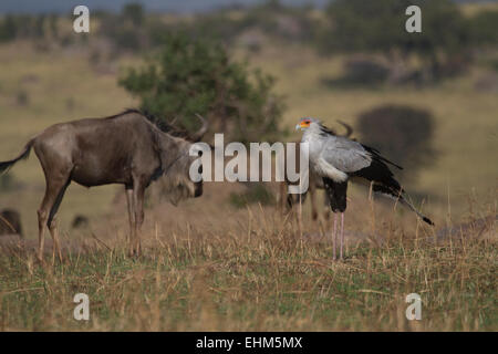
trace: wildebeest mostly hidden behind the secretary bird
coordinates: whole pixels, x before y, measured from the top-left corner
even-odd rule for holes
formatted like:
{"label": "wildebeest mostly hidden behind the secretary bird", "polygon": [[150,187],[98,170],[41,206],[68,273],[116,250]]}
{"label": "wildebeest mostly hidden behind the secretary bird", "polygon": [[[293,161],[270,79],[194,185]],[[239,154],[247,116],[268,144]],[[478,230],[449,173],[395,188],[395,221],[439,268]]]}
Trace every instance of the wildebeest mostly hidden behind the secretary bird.
{"label": "wildebeest mostly hidden behind the secretary bird", "polygon": [[[351,137],[351,135],[353,134],[353,128],[341,121],[338,121],[339,124],[341,124],[344,128],[345,128],[345,133],[343,135],[339,135],[339,136],[344,136],[344,137]],[[299,142],[295,143],[295,153],[294,156],[297,158],[295,160],[295,168],[297,170],[299,170],[300,168],[300,159],[299,159]],[[318,208],[317,208],[317,190],[318,189],[324,189],[324,185],[323,185],[323,179],[320,178],[319,176],[317,176],[311,169],[309,171],[309,187],[308,187],[308,191],[300,195],[292,195],[292,194],[288,194],[288,188],[289,186],[298,186],[299,185],[299,180],[295,183],[289,181],[288,177],[287,177],[287,169],[284,169],[286,171],[286,176],[284,176],[284,181],[280,183],[280,190],[279,190],[279,200],[280,200],[280,209],[283,210],[291,210],[292,207],[294,206],[294,204],[303,204],[307,199],[308,194],[310,195],[310,201],[311,201],[311,218],[313,220],[317,220],[318,218]],[[330,211],[329,211],[329,199],[328,196],[325,194],[324,196],[324,215],[325,218],[329,218]]]}

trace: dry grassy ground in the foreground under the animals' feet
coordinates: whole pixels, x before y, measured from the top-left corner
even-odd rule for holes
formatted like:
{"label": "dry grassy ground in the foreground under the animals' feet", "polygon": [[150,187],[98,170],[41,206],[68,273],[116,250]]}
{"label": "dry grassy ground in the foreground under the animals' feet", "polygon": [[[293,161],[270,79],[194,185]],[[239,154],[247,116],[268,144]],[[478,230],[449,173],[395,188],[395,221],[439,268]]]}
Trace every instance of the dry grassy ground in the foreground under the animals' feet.
{"label": "dry grassy ground in the foreground under the animals' feet", "polygon": [[[191,227],[156,235],[141,259],[123,240],[97,241],[40,267],[33,253],[0,256],[0,330],[96,331],[496,331],[496,238],[468,231],[378,228],[349,242],[300,237],[292,220],[248,212],[232,232]],[[178,232],[178,233],[177,233]],[[149,236],[151,237],[151,236]],[[90,298],[90,321],[72,299]],[[422,296],[407,321],[405,296]]]}

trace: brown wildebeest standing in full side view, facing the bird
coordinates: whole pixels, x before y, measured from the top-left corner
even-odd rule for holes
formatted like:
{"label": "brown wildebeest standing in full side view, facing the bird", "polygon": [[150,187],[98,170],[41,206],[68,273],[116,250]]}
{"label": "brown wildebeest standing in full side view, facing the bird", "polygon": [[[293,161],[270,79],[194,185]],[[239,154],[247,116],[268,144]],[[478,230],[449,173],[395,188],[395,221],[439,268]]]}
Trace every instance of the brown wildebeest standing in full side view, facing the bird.
{"label": "brown wildebeest standing in full side view, facing the bird", "polygon": [[[191,142],[199,140],[207,131],[207,122],[201,121],[203,127],[190,137]],[[203,194],[203,181],[189,179],[190,164],[197,158],[189,155],[191,142],[162,132],[144,113],[127,110],[110,117],[52,125],[31,138],[18,157],[0,163],[0,173],[28,158],[31,148],[34,149],[46,183],[38,210],[40,260],[45,225],[53,239],[53,252],[56,250],[62,259],[54,218],[71,181],[85,187],[124,185],[131,228],[129,254],[138,256],[144,194],[153,180],[165,175],[172,189],[180,188],[189,197]]]}

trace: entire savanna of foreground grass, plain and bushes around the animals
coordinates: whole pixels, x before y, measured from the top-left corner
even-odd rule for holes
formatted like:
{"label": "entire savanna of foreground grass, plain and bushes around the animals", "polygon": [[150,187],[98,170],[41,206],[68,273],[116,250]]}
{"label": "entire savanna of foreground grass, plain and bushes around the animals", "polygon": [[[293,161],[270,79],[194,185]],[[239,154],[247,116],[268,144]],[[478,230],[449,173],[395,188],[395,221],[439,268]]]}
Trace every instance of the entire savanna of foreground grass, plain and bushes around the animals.
{"label": "entire savanna of foreground grass, plain and bushes around the animals", "polygon": [[[496,331],[498,8],[421,1],[423,33],[409,37],[403,1],[367,3],[196,15],[132,3],[92,14],[89,34],[70,15],[1,17],[0,160],[51,124],[131,106],[185,129],[200,113],[209,143],[215,132],[295,140],[302,116],[341,119],[406,167],[401,180],[436,227],[353,186],[346,259],[333,262],[331,220],[312,222],[305,204],[300,228],[273,184],[205,184],[178,207],[153,187],[145,254],[129,259],[122,188],[72,185],[64,261],[49,242],[39,264],[44,178],[32,156],[0,177],[0,209],[18,209],[24,229],[23,243],[0,237],[0,329]],[[90,222],[72,228],[79,215]],[[89,322],[73,319],[80,292]],[[422,321],[405,317],[414,292]]]}

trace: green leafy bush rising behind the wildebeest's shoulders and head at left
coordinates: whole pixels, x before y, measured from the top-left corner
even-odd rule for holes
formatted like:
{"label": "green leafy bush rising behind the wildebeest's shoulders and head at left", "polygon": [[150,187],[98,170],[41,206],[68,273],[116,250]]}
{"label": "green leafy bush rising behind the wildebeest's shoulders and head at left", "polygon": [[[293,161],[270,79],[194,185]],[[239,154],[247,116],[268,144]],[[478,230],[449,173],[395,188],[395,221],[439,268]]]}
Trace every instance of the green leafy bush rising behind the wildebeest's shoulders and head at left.
{"label": "green leafy bush rising behind the wildebeest's shoulders and head at left", "polygon": [[274,140],[280,133],[281,98],[273,79],[235,62],[219,43],[169,34],[160,53],[139,69],[128,69],[120,84],[152,114],[194,129],[196,113],[212,132],[238,142]]}

